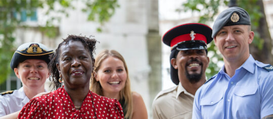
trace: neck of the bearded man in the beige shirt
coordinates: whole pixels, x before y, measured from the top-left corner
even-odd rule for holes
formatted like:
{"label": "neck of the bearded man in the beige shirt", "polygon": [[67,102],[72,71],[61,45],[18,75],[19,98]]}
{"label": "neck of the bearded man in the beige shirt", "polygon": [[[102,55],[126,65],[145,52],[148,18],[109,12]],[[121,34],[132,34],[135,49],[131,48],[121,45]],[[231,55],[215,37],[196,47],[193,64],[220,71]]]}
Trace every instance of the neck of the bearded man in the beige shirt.
{"label": "neck of the bearded man in the beige shirt", "polygon": [[195,92],[197,89],[202,86],[206,82],[205,75],[201,78],[200,81],[192,84],[188,79],[185,78],[185,80],[181,81],[181,85],[185,90],[187,90],[189,93],[195,95]]}

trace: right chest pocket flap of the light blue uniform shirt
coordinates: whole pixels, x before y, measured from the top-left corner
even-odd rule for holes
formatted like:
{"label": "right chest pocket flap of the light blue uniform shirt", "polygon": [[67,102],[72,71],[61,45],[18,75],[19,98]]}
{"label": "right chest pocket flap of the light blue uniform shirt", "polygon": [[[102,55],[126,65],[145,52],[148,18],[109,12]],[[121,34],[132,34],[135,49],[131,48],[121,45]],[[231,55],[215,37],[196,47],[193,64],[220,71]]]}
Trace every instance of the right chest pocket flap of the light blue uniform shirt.
{"label": "right chest pocket flap of the light blue uniform shirt", "polygon": [[241,97],[247,96],[247,95],[253,95],[256,93],[257,89],[258,89],[258,86],[249,86],[248,88],[238,86],[235,88],[234,94]]}

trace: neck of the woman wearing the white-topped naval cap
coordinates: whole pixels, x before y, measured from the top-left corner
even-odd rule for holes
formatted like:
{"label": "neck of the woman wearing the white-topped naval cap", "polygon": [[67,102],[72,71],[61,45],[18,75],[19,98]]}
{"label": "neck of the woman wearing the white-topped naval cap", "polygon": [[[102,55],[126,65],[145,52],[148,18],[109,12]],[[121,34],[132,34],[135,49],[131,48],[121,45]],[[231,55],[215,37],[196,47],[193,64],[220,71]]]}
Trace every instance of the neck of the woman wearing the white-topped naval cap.
{"label": "neck of the woman wearing the white-topped naval cap", "polygon": [[35,89],[30,89],[27,88],[26,86],[23,86],[24,92],[26,94],[26,96],[28,97],[28,99],[33,98],[35,95],[41,93],[41,92],[45,92],[44,90],[44,85],[42,85],[41,87],[35,88]]}

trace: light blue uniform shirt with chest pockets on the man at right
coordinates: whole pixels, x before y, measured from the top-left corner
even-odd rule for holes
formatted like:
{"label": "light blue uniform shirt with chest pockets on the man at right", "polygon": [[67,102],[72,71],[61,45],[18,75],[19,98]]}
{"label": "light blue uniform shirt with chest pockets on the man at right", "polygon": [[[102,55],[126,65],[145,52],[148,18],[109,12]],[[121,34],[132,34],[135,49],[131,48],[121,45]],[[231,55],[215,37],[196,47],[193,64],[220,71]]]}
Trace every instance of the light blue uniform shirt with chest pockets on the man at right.
{"label": "light blue uniform shirt with chest pockets on the man at right", "polygon": [[273,114],[273,71],[247,61],[230,77],[224,67],[195,93],[192,118],[262,118]]}

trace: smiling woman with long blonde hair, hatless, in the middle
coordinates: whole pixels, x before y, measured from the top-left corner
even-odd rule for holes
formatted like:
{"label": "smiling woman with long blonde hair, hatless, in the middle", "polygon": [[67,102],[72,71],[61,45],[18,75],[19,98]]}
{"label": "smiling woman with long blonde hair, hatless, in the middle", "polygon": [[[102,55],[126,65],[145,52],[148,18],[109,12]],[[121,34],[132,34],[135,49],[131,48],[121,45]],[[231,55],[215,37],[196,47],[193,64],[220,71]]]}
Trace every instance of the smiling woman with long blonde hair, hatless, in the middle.
{"label": "smiling woman with long blonde hair, hatless, in the middle", "polygon": [[124,118],[148,118],[142,96],[131,92],[125,60],[115,50],[104,50],[97,55],[90,90],[119,100]]}

